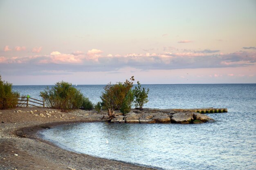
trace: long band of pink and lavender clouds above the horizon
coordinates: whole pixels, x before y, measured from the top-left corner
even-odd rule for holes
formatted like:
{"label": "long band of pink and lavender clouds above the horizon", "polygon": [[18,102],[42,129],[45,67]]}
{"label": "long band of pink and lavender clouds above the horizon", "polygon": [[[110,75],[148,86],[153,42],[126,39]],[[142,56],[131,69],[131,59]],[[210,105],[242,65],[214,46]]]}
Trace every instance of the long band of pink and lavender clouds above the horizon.
{"label": "long band of pink and lavender clouds above the horizon", "polygon": [[[140,70],[173,70],[187,68],[230,68],[256,64],[256,52],[212,54],[219,50],[177,53],[145,53],[103,55],[98,49],[63,54],[58,51],[47,55],[0,57],[0,72],[6,74],[49,74],[49,70],[64,72],[117,71],[121,68]],[[23,71],[22,71],[23,70]]]}

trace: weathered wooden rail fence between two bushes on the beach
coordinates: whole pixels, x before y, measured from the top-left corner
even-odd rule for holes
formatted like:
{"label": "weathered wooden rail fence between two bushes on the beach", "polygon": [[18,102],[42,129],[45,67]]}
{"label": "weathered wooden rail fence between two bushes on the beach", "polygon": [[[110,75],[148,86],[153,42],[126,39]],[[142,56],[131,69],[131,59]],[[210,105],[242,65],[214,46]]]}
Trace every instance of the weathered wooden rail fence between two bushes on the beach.
{"label": "weathered wooden rail fence between two bushes on the beach", "polygon": [[26,107],[29,107],[29,106],[45,107],[45,101],[38,100],[35,98],[31,98],[31,97],[19,97],[18,98],[18,106],[20,106],[20,107],[24,107],[24,106],[26,106]]}

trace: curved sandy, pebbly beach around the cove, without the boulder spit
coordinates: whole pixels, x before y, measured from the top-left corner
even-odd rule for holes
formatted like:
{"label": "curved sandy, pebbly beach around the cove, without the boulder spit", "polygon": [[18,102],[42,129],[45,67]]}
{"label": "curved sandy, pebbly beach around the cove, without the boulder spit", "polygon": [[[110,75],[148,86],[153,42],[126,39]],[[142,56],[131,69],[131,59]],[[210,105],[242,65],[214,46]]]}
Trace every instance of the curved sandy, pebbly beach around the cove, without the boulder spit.
{"label": "curved sandy, pebbly beach around the cove, without the boulder spit", "polygon": [[104,113],[95,113],[95,118],[88,118],[85,116],[86,112],[78,110],[66,113],[56,109],[35,107],[0,110],[0,170],[152,169],[74,153],[36,135],[38,130],[60,124],[104,121],[101,118]]}

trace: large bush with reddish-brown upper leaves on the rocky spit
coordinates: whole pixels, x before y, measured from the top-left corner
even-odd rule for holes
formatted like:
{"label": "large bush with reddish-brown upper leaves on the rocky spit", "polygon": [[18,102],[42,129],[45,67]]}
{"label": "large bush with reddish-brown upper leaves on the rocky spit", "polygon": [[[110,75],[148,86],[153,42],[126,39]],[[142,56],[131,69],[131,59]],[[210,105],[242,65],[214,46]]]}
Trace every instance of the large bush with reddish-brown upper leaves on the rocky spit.
{"label": "large bush with reddish-brown upper leaves on the rocky spit", "polygon": [[[115,110],[121,109],[124,99],[130,89],[132,88],[132,84],[134,81],[134,76],[130,78],[130,81],[126,80],[124,83],[117,83],[112,85],[111,82],[106,85],[105,92],[102,93],[102,107],[103,109],[108,110],[108,116],[112,117],[115,115]],[[128,102],[128,100],[127,100]],[[129,106],[130,104],[127,103]]]}

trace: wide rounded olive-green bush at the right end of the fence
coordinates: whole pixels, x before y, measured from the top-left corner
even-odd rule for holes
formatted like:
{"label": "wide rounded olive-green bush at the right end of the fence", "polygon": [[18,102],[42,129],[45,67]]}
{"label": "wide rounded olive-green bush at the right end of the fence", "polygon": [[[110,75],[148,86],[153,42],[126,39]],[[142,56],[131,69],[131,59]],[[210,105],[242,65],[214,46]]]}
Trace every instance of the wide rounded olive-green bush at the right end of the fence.
{"label": "wide rounded olive-green bush at the right end of the fence", "polygon": [[47,107],[61,109],[62,111],[79,109],[83,105],[85,98],[83,94],[71,83],[58,82],[54,87],[47,87],[40,96],[45,100]]}

